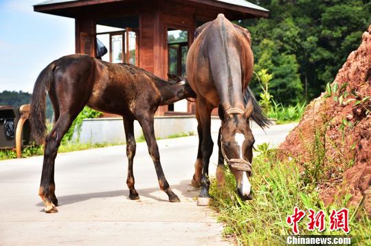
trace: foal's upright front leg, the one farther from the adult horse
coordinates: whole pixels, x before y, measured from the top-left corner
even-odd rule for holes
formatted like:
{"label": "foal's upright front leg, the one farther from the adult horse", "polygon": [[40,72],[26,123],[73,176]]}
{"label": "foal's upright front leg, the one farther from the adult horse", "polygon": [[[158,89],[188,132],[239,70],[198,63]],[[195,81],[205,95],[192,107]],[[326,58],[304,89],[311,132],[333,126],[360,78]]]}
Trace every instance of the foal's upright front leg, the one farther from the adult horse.
{"label": "foal's upright front leg, the one farther from the adult horse", "polygon": [[134,173],[133,173],[133,160],[135,156],[135,150],[137,148],[135,144],[134,136],[134,120],[124,118],[124,129],[126,136],[126,156],[128,157],[128,178],[126,179],[126,184],[129,189],[129,198],[132,200],[139,199],[137,190],[134,188]]}

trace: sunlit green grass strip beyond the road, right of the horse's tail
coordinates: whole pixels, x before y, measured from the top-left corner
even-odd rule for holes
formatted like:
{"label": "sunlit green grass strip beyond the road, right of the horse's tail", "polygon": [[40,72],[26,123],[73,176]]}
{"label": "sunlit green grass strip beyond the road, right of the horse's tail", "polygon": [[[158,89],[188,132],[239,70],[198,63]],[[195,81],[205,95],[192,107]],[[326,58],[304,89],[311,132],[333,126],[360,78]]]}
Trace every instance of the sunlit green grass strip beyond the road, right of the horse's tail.
{"label": "sunlit green grass strip beyond the road, right of the horse's tail", "polygon": [[297,102],[295,106],[284,106],[282,103],[276,103],[273,100],[273,107],[271,107],[267,116],[271,119],[276,119],[277,124],[299,121],[302,119],[305,106],[305,102]]}

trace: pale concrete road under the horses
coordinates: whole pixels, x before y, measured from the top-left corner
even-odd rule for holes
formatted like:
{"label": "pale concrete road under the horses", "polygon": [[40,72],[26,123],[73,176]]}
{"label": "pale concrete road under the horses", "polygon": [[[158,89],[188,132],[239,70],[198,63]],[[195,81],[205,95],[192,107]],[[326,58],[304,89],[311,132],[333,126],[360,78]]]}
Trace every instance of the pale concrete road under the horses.
{"label": "pale concrete road under the horses", "polygon": [[[254,128],[256,143],[278,145],[293,127],[276,125],[267,134]],[[199,190],[189,185],[197,136],[158,144],[165,175],[181,203],[170,204],[159,190],[146,143],[137,144],[134,162],[137,201],[128,199],[124,146],[58,154],[56,214],[45,214],[37,195],[42,156],[0,161],[0,245],[229,245],[214,212],[196,206]],[[211,174],[216,154],[214,148]]]}

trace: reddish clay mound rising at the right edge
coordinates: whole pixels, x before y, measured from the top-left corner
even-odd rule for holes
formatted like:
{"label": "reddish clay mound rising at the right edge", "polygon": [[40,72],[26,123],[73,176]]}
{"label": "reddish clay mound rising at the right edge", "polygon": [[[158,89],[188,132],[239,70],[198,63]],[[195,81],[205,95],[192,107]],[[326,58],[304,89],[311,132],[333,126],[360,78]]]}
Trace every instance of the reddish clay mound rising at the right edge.
{"label": "reddish clay mound rising at the right edge", "polygon": [[[325,203],[346,190],[371,217],[371,25],[348,56],[326,93],[306,108],[299,125],[280,148],[303,170],[320,160],[319,194]],[[322,156],[321,156],[322,155]],[[316,159],[317,158],[317,159]],[[316,162],[318,163],[318,162]]]}

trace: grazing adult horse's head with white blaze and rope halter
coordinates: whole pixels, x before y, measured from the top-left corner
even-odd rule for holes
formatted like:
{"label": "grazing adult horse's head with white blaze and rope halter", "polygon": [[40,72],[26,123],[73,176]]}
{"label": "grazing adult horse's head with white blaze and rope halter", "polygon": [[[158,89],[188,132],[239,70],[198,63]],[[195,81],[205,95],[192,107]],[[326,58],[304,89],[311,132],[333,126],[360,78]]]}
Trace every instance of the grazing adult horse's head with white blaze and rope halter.
{"label": "grazing adult horse's head with white blaze and rope halter", "polygon": [[252,199],[249,177],[255,140],[249,126],[249,118],[253,103],[249,99],[245,111],[238,108],[224,110],[223,106],[219,106],[218,111],[222,120],[221,150],[236,177],[236,192],[243,200]]}

